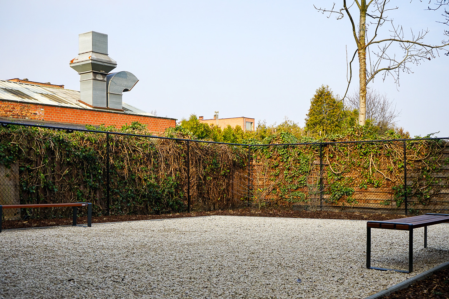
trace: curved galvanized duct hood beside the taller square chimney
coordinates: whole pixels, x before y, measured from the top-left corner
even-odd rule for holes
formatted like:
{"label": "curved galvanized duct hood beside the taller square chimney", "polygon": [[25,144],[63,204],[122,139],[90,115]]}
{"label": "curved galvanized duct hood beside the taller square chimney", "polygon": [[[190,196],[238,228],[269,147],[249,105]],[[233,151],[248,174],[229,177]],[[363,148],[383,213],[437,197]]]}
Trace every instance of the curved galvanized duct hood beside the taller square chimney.
{"label": "curved galvanized duct hood beside the taller square chimney", "polygon": [[138,81],[136,76],[127,71],[108,74],[106,76],[108,107],[122,109],[123,92],[130,91]]}

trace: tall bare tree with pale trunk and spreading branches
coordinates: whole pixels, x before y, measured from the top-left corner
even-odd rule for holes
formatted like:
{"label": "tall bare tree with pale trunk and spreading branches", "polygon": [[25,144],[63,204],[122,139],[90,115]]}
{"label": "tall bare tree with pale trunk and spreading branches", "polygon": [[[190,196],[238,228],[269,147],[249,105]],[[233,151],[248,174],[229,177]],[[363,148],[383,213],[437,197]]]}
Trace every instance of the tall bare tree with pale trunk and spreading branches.
{"label": "tall bare tree with pale trunk and spreading branches", "polygon": [[[337,19],[342,19],[345,15],[348,16],[351,22],[352,35],[355,39],[357,49],[352,55],[349,62],[349,78],[348,87],[343,98],[346,97],[352,79],[352,61],[356,54],[359,60],[359,124],[365,125],[366,119],[366,86],[370,83],[374,76],[382,74],[383,79],[387,75],[392,75],[395,82],[399,82],[399,71],[409,73],[410,65],[418,65],[423,60],[430,60],[439,56],[439,50],[448,50],[449,43],[442,43],[441,45],[433,45],[423,43],[424,37],[428,30],[421,30],[418,33],[410,32],[409,37],[405,37],[405,32],[402,26],[393,24],[392,19],[389,19],[387,13],[398,9],[397,6],[389,7],[390,0],[354,0],[349,6],[346,0],[343,1],[341,9],[315,9],[322,13],[336,14]],[[440,7],[448,5],[448,0],[437,0],[440,2]],[[438,9],[435,8],[435,9]],[[359,16],[359,22],[352,17]],[[367,22],[368,18],[368,22]],[[390,36],[380,38],[380,27],[383,25],[391,25],[389,30]],[[368,35],[368,27],[373,27]],[[399,54],[401,52],[401,54]],[[367,58],[368,53],[368,58]],[[368,61],[367,61],[368,59]]]}

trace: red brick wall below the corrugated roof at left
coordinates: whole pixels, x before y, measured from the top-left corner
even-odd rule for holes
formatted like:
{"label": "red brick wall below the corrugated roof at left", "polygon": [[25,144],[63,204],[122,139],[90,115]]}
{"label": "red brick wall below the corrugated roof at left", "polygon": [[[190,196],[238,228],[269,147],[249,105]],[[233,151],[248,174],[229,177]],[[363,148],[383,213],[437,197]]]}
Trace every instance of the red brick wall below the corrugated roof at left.
{"label": "red brick wall below the corrugated roof at left", "polygon": [[0,100],[0,117],[34,119],[40,121],[56,121],[71,124],[94,125],[105,124],[121,127],[139,121],[153,132],[163,132],[167,127],[175,127],[176,120],[172,118],[150,117],[124,114],[109,111],[96,111],[81,108],[69,108],[44,104],[29,104]]}

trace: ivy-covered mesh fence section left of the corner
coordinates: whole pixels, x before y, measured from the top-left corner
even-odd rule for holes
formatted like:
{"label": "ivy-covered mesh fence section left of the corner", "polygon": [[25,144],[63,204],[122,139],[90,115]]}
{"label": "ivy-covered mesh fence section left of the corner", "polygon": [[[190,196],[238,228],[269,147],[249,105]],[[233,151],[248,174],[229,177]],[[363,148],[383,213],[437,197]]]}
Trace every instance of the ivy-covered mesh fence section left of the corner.
{"label": "ivy-covered mesh fence section left of the corner", "polygon": [[[247,165],[233,144],[3,123],[0,204],[92,202],[94,215],[241,206]],[[69,216],[22,209],[5,218]]]}

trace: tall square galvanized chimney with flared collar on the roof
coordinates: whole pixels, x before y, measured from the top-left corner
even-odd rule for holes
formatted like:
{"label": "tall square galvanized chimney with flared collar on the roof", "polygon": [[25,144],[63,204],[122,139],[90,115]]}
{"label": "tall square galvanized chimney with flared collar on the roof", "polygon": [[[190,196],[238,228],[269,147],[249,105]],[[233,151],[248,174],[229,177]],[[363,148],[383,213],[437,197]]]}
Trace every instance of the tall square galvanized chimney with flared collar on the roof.
{"label": "tall square galvanized chimney with flared collar on the roof", "polygon": [[117,62],[108,56],[108,35],[95,31],[79,35],[79,53],[70,61],[70,67],[81,76],[82,102],[107,107],[106,75],[116,66]]}

